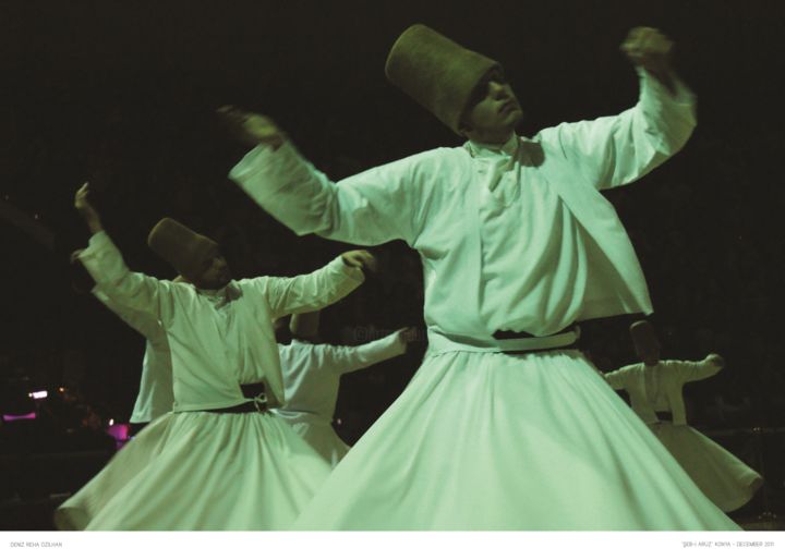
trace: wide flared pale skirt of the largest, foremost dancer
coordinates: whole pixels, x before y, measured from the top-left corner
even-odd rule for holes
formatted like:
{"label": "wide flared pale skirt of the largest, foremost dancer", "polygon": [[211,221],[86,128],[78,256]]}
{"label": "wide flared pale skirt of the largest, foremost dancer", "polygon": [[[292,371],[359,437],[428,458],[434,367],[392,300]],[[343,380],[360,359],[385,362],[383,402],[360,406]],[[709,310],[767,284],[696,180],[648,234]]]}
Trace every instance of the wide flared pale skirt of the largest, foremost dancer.
{"label": "wide flared pale skirt of the largest, foremost dancer", "polygon": [[738,529],[578,351],[426,358],[295,529]]}

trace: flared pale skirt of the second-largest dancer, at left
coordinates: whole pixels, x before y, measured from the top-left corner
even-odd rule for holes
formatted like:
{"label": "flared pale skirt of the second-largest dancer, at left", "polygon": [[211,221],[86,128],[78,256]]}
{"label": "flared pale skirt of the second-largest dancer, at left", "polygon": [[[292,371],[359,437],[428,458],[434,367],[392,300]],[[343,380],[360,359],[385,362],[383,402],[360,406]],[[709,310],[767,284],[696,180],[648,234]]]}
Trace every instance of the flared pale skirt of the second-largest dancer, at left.
{"label": "flared pale skirt of the second-largest dancer, at left", "polygon": [[170,413],[55,513],[61,529],[289,528],[330,472],[280,418]]}

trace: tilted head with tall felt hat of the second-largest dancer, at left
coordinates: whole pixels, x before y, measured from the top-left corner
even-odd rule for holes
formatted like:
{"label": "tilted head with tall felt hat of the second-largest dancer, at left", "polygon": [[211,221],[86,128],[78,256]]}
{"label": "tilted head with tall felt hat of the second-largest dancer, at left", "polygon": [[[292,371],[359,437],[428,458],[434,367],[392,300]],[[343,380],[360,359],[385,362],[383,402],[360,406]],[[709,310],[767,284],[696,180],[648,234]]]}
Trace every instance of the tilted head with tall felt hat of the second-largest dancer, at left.
{"label": "tilted head with tall felt hat of the second-largest dancer, at left", "polygon": [[219,245],[171,218],[164,218],[150,230],[147,245],[169,263],[185,282],[217,290],[231,280],[231,270]]}

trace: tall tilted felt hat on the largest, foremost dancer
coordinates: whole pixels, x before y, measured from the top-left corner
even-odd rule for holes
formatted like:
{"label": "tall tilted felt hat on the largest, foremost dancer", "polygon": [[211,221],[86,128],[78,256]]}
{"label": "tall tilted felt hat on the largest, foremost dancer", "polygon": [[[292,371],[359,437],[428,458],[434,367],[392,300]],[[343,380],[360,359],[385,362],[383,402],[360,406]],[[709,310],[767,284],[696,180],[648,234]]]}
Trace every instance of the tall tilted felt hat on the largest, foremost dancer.
{"label": "tall tilted felt hat on the largest, foremost dancer", "polygon": [[385,74],[394,85],[458,133],[474,88],[502,65],[464,49],[422,24],[404,31],[387,56]]}

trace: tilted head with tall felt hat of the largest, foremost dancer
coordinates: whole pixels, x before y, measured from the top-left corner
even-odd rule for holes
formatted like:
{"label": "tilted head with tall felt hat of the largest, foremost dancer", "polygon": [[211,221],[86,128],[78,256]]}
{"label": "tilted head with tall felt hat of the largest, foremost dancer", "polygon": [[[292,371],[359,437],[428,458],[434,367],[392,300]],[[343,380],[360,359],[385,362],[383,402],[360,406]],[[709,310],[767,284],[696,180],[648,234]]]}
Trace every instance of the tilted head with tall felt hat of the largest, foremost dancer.
{"label": "tilted head with tall felt hat of the largest, foremost dancer", "polygon": [[385,74],[455,133],[476,142],[506,142],[523,114],[498,62],[422,24],[398,37]]}

